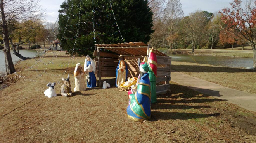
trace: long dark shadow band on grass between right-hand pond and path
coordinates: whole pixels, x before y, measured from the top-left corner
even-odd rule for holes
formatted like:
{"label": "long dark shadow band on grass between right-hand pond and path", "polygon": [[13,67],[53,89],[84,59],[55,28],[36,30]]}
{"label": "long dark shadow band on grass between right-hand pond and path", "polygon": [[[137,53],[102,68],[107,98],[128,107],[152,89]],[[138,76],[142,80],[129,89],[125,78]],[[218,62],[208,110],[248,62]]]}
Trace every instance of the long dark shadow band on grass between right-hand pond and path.
{"label": "long dark shadow band on grass between right-hand pond and path", "polygon": [[[171,65],[171,69],[179,72],[256,72],[253,69],[240,69],[234,67],[214,67],[214,66],[200,66],[200,65]],[[175,72],[175,71],[172,71]]]}

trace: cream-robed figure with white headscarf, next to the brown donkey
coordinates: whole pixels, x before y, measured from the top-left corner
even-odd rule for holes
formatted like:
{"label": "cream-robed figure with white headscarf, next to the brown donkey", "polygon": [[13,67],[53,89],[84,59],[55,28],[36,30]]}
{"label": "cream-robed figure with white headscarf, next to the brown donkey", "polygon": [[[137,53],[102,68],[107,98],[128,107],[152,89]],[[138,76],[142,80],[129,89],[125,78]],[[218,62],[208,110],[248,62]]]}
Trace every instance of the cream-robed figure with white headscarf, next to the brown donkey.
{"label": "cream-robed figure with white headscarf, next to the brown donkey", "polygon": [[74,71],[74,77],[75,77],[75,85],[74,92],[76,91],[85,91],[86,85],[85,85],[85,72],[83,71],[83,67],[80,63],[76,64],[76,68]]}

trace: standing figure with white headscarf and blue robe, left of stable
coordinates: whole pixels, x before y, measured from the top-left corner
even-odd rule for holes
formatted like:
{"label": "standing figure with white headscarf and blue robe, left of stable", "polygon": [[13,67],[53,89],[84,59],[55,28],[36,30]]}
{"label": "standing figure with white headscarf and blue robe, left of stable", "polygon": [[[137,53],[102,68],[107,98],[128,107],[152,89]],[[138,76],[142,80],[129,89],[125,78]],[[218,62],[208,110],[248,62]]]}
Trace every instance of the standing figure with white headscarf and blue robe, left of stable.
{"label": "standing figure with white headscarf and blue robe, left of stable", "polygon": [[88,88],[96,87],[97,79],[95,76],[95,71],[96,71],[95,62],[88,55],[85,57],[84,71],[87,75],[87,87]]}

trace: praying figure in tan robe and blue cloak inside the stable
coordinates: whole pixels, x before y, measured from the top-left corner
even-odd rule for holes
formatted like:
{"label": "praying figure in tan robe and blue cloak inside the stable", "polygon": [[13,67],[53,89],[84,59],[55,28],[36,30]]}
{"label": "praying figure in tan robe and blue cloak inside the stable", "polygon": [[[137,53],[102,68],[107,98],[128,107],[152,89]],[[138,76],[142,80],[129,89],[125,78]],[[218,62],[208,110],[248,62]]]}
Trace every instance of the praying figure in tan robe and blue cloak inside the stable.
{"label": "praying figure in tan robe and blue cloak inside the stable", "polygon": [[128,67],[125,64],[125,61],[121,59],[116,68],[116,87],[127,81]]}

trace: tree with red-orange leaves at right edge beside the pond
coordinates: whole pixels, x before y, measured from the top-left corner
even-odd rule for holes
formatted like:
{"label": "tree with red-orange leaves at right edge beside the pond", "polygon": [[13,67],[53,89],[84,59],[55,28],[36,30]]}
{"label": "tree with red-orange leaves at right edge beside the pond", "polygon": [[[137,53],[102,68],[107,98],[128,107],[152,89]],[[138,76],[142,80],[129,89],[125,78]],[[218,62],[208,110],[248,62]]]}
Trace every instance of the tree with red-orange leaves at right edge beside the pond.
{"label": "tree with red-orange leaves at right edge beside the pond", "polygon": [[253,67],[256,68],[256,0],[246,0],[245,7],[242,7],[242,0],[234,0],[230,5],[231,8],[220,11],[222,22],[227,25],[223,29],[250,42],[253,48]]}

